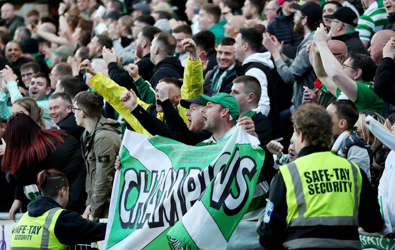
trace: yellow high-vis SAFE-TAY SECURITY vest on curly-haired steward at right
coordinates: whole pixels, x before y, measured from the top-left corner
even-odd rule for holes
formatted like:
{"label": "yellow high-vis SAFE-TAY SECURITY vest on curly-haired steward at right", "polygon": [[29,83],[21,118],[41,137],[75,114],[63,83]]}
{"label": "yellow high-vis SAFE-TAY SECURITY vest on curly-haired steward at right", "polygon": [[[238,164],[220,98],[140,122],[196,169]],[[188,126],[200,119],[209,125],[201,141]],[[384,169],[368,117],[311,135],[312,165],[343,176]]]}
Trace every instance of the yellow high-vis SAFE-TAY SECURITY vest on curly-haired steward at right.
{"label": "yellow high-vis SAFE-TAY SECURITY vest on curly-haired steward at right", "polygon": [[[288,227],[358,226],[362,176],[355,163],[326,151],[300,157],[279,171],[286,186]],[[310,238],[284,242],[283,246],[314,248],[326,241],[332,247],[360,249],[359,241]]]}

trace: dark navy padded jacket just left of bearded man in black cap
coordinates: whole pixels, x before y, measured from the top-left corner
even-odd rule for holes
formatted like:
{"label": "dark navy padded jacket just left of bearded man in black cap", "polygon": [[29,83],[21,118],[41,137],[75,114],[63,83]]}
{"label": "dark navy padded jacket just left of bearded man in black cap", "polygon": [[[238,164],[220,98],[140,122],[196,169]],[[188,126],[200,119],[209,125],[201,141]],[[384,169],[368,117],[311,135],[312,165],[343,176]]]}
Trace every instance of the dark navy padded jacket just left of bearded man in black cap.
{"label": "dark navy padded jacket just left of bearded man in black cap", "polygon": [[284,41],[284,45],[296,47],[303,40],[303,36],[295,34],[293,26],[293,15],[284,16],[279,9],[275,20],[269,23],[267,30],[270,35],[275,35],[279,42]]}

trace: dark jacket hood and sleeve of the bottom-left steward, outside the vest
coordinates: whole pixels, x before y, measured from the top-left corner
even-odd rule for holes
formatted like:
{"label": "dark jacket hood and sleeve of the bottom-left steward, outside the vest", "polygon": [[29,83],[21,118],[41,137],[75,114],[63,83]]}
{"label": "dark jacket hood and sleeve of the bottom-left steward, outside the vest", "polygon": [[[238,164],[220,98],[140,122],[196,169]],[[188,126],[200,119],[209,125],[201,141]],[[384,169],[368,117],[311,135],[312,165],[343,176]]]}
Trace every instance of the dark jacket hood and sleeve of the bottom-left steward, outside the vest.
{"label": "dark jacket hood and sleeve of the bottom-left steward, outside the vest", "polygon": [[[60,207],[53,199],[41,196],[28,205],[28,214],[39,217],[52,208]],[[54,233],[62,244],[85,244],[104,240],[106,226],[104,223],[86,220],[76,212],[64,210],[56,220]]]}

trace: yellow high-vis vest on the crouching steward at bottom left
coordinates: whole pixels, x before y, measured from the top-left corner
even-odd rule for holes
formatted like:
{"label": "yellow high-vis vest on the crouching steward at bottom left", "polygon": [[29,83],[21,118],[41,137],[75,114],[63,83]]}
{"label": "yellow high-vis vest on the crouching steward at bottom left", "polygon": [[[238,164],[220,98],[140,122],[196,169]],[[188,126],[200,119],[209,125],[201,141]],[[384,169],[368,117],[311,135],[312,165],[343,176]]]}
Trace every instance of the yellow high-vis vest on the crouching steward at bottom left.
{"label": "yellow high-vis vest on the crouching steward at bottom left", "polygon": [[62,208],[52,208],[39,217],[23,214],[12,230],[11,250],[64,250],[69,246],[56,238],[54,228]]}

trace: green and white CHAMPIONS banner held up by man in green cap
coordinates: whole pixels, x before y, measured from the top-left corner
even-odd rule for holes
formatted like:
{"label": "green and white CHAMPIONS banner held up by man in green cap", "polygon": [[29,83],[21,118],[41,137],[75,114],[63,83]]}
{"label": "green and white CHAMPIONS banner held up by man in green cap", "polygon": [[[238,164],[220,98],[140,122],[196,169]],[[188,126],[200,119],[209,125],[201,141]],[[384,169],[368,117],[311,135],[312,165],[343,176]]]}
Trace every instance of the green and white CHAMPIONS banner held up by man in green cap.
{"label": "green and white CHAMPIONS banner held up by man in green cap", "polygon": [[255,190],[265,157],[258,144],[238,126],[204,146],[126,131],[106,249],[225,249],[251,200],[267,191]]}

